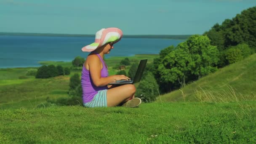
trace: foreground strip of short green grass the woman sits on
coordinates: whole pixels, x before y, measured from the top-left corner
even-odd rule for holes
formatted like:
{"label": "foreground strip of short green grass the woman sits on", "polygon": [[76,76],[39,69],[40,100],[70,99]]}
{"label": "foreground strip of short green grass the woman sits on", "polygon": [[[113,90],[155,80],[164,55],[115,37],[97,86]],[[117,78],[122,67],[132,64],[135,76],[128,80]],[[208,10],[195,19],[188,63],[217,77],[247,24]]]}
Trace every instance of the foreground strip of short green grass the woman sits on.
{"label": "foreground strip of short green grass the woman sits on", "polygon": [[256,102],[0,110],[0,143],[256,143]]}

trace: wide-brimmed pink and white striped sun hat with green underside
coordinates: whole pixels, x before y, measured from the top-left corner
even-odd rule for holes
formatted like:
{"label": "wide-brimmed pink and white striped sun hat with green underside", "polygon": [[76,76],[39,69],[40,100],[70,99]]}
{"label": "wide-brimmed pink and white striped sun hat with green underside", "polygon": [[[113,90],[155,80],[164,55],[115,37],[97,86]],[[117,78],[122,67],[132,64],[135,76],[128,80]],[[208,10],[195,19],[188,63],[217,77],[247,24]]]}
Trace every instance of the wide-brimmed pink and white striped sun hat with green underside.
{"label": "wide-brimmed pink and white striped sun hat with green underside", "polygon": [[106,43],[117,43],[123,37],[121,29],[115,27],[109,27],[107,29],[101,29],[96,32],[95,42],[90,45],[86,45],[82,48],[82,51],[94,51],[96,48],[101,47]]}

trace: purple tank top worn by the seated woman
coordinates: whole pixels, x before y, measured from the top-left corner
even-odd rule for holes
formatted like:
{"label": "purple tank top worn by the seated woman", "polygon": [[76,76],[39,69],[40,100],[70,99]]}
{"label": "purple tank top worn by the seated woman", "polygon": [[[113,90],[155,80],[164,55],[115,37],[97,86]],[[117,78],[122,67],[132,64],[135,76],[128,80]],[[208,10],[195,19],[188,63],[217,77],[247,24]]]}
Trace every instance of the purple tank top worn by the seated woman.
{"label": "purple tank top worn by the seated woman", "polygon": [[[101,59],[101,56],[97,54],[99,59],[101,60],[101,63],[103,65],[103,68],[101,69],[101,77],[108,77],[109,73],[107,71],[107,67],[103,59]],[[93,100],[93,97],[98,93],[98,91],[107,89],[106,86],[97,87],[93,84],[93,80],[91,79],[90,72],[83,66],[82,74],[81,74],[81,86],[82,86],[82,98],[83,103],[87,103]]]}

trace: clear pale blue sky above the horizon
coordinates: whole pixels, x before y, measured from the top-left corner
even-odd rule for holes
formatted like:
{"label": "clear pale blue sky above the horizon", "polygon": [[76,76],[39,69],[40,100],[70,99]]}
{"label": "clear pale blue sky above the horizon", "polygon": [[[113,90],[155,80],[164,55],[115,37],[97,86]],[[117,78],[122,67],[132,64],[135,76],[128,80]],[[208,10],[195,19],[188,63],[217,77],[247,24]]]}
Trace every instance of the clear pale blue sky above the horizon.
{"label": "clear pale blue sky above the horizon", "polygon": [[203,34],[256,0],[0,0],[0,32],[124,35]]}

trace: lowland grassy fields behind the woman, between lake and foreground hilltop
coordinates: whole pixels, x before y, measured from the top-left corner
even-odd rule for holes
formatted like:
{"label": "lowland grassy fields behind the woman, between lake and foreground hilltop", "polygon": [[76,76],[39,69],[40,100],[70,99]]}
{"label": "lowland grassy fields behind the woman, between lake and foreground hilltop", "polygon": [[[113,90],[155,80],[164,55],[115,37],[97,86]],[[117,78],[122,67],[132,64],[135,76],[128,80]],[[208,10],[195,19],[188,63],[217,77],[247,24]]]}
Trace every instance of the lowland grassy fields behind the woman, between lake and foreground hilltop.
{"label": "lowland grassy fields behind the woman, between lake and foreground hilltop", "polygon": [[[128,57],[131,61],[139,62],[140,59],[148,59],[151,63],[157,54],[136,54]],[[125,57],[111,57],[106,59],[109,67],[109,75],[115,75],[116,64],[119,64]],[[40,61],[40,64],[54,64],[63,67],[71,67],[71,62],[63,61]],[[75,73],[81,74],[82,67],[72,69],[70,75],[51,77],[48,79],[35,79],[33,76],[26,76],[29,69],[33,68],[7,68],[0,69],[0,109],[8,108],[35,108],[45,103],[48,98],[57,99],[68,97],[69,78]],[[128,72],[129,66],[125,69]],[[23,78],[21,78],[23,77]]]}

